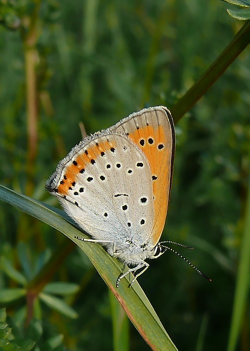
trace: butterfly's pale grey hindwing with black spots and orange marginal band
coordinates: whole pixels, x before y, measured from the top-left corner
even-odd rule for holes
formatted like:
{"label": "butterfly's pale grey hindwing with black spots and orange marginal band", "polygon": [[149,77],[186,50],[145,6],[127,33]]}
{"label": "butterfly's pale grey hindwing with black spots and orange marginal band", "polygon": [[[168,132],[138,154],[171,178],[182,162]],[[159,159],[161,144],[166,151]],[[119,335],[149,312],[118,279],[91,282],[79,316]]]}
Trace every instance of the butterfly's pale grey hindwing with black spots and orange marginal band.
{"label": "butterfly's pale grey hindwing with black spots and orange marginal band", "polygon": [[[152,232],[147,158],[126,136],[105,130],[83,139],[59,162],[45,189],[93,238],[119,243]],[[144,239],[143,239],[144,238]],[[109,252],[111,244],[105,245]]]}

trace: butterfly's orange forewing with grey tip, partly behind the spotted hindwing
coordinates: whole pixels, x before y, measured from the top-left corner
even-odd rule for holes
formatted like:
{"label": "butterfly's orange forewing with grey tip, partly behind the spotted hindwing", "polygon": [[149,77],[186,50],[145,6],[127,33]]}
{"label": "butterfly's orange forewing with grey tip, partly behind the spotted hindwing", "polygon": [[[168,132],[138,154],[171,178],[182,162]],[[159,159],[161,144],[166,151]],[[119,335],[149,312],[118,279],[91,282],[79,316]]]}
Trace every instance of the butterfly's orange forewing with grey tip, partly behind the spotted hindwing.
{"label": "butterfly's orange forewing with grey tip, partly behind the spotted hindwing", "polygon": [[170,111],[163,106],[145,108],[109,129],[128,136],[149,162],[154,197],[152,236],[156,245],[164,228],[172,180],[175,134]]}

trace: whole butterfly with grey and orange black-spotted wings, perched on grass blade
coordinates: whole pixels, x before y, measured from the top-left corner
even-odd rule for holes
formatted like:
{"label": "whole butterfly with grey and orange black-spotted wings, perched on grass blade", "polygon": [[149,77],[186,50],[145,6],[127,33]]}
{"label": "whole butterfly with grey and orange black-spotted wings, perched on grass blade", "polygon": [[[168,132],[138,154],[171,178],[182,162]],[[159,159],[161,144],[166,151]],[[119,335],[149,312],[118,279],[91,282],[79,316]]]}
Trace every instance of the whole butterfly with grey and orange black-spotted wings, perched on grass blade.
{"label": "whole butterfly with grey and orange black-spotted wings, perched on grass blade", "polygon": [[58,163],[45,189],[90,235],[87,241],[133,266],[129,271],[141,269],[136,278],[148,267],[145,259],[165,251],[160,252],[158,241],[173,155],[170,112],[162,106],[143,109],[81,140]]}

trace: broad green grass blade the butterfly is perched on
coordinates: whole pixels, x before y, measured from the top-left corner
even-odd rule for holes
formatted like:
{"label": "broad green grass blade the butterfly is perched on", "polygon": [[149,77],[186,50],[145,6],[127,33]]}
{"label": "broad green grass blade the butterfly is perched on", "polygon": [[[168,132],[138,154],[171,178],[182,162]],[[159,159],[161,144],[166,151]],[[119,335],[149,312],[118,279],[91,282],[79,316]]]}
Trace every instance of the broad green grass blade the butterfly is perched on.
{"label": "broad green grass blade the butterfly is perched on", "polygon": [[114,296],[124,308],[128,318],[148,345],[157,351],[176,350],[176,347],[169,338],[139,284],[135,281],[133,287],[128,288],[129,282],[125,277],[121,280],[117,289],[115,283],[123,265],[118,260],[109,256],[100,245],[84,243],[74,239],[74,235],[81,237],[86,237],[86,235],[69,223],[70,220],[63,211],[54,209],[3,186],[0,186],[0,199],[50,225],[78,245],[111,289]]}

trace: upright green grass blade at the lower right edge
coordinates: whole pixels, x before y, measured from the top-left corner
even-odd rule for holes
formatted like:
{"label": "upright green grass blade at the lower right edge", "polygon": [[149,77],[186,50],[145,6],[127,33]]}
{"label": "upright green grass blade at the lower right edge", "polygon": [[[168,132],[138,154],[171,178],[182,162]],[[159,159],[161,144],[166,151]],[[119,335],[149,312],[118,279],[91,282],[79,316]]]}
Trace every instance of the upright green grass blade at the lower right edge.
{"label": "upright green grass blade at the lower right edge", "polygon": [[239,264],[232,308],[231,326],[228,339],[228,351],[233,351],[240,333],[243,314],[247,303],[247,294],[250,280],[250,177],[248,184],[248,196],[246,202],[246,213],[241,248],[239,253]]}

